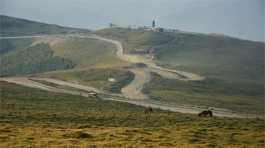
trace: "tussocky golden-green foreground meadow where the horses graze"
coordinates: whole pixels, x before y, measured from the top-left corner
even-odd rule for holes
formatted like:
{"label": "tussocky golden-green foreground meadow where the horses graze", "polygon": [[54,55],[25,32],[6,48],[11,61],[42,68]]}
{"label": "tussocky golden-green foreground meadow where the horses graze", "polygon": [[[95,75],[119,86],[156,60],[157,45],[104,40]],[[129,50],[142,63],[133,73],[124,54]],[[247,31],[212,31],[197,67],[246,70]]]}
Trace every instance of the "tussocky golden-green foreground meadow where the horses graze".
{"label": "tussocky golden-green foreground meadow where the horses graze", "polygon": [[[1,81],[1,147],[264,147],[264,119],[197,117]],[[214,113],[214,112],[213,112]],[[214,115],[214,114],[213,114]]]}

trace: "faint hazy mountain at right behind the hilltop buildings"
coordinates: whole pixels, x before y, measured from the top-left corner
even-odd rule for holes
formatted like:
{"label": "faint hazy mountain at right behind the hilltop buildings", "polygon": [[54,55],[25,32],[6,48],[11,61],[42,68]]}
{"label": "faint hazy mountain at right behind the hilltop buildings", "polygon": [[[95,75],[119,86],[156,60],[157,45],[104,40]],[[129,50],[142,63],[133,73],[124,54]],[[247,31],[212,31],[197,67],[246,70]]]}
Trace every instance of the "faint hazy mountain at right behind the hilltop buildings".
{"label": "faint hazy mountain at right behind the hilltop buildings", "polygon": [[184,31],[219,33],[264,42],[264,11],[259,11],[256,3],[262,4],[262,1],[217,1],[188,13],[161,16],[156,24],[163,28],[179,27]]}

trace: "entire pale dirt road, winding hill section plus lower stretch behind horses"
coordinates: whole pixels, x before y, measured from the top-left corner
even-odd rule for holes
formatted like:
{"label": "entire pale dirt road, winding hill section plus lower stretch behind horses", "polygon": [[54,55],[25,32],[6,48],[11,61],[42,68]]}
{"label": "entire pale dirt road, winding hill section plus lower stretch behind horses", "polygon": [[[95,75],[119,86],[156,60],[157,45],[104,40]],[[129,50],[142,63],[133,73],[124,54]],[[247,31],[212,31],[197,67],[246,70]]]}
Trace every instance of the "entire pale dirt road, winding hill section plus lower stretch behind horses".
{"label": "entire pale dirt road, winding hill section plus lower stretch behind horses", "polygon": [[[126,59],[127,61],[130,62],[142,62],[146,63],[150,67],[155,67],[155,63],[151,61],[148,58],[148,55],[126,55],[123,53],[123,47],[122,44],[119,41],[114,41],[110,40],[107,38],[101,38],[101,37],[88,37],[86,38],[95,38],[95,39],[100,39],[102,41],[107,41],[110,43],[113,43],[116,48],[116,55],[118,58]],[[128,102],[132,104],[137,104],[137,105],[142,105],[142,106],[152,106],[154,108],[161,108],[164,110],[170,110],[170,111],[177,111],[177,112],[182,112],[182,113],[191,113],[191,114],[197,114],[198,112],[201,112],[203,109],[199,109],[196,107],[186,107],[186,106],[181,106],[181,105],[168,105],[163,102],[154,102],[154,101],[146,101],[148,100],[148,95],[141,93],[144,84],[149,83],[151,78],[149,76],[149,72],[156,72],[159,75],[163,76],[164,78],[171,78],[171,79],[179,79],[179,80],[203,80],[205,79],[204,77],[201,77],[197,74],[194,73],[187,73],[187,72],[182,72],[183,75],[187,78],[182,78],[179,75],[175,73],[180,73],[180,71],[177,70],[169,70],[169,69],[156,69],[156,68],[130,68],[128,69],[132,73],[135,74],[135,79],[125,86],[124,88],[121,89],[122,94],[111,94],[105,90],[101,90],[98,88],[86,86],[86,85],[80,85],[76,84],[76,88],[80,88],[83,90],[93,90],[98,93],[103,93],[103,94],[108,94],[108,95],[119,95],[119,96],[124,96],[126,98],[117,98],[117,97],[101,97],[101,99],[106,99],[106,100],[115,100],[115,101],[122,101],[122,102]],[[174,73],[172,73],[174,72]],[[62,80],[57,80],[57,79],[52,79],[52,78],[31,78],[31,79],[36,79],[36,80],[45,80],[49,81],[52,83],[57,83],[60,85],[68,85],[74,87],[74,83],[62,81]],[[75,95],[81,95],[80,92],[71,92],[67,90],[60,90],[56,88],[52,88],[47,85],[39,84],[30,80],[27,80],[25,77],[20,77],[20,76],[13,76],[13,77],[4,77],[1,78],[1,80],[5,80],[8,82],[13,82],[21,85],[26,85],[29,87],[34,87],[34,88],[39,88],[47,91],[52,91],[52,92],[65,92],[65,93],[70,93],[70,94],[75,94]],[[87,94],[82,94],[83,96],[88,97]],[[128,99],[127,99],[128,98]],[[129,99],[130,98],[130,99]],[[221,112],[221,111],[213,111],[215,116],[220,116],[220,117],[256,117],[254,115],[245,115],[245,114],[235,114],[231,112]]]}

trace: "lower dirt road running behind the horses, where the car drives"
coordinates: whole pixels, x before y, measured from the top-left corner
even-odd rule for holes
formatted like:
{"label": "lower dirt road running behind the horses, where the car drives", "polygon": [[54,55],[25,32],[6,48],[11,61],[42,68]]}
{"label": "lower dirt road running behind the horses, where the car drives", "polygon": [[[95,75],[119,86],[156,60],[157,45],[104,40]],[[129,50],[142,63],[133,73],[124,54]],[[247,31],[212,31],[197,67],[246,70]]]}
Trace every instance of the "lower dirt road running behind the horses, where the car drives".
{"label": "lower dirt road running behind the horses, where the car drives", "polygon": [[[139,71],[139,70],[136,70]],[[73,83],[66,82],[66,81],[62,81],[62,80],[57,80],[57,79],[51,79],[51,78],[31,78],[31,79],[36,79],[36,80],[48,80],[57,84],[61,84],[61,85],[69,85],[74,87]],[[88,94],[86,93],[80,93],[80,92],[72,92],[72,91],[67,91],[67,90],[61,90],[61,89],[57,89],[57,88],[53,88],[47,85],[43,85],[40,83],[36,83],[33,82],[31,80],[27,80],[26,77],[20,77],[20,76],[12,76],[12,77],[4,77],[1,78],[1,80],[4,81],[8,81],[8,82],[13,82],[13,83],[17,83],[17,84],[21,84],[21,85],[25,85],[25,86],[29,86],[29,87],[33,87],[33,88],[39,88],[42,90],[46,90],[46,91],[51,91],[51,92],[63,92],[63,93],[69,93],[69,94],[73,94],[73,95],[82,95],[85,97],[88,97]],[[84,90],[91,90],[91,87],[85,86],[85,85],[76,85],[76,88],[80,88],[80,89],[84,89]],[[92,88],[93,90],[96,90],[95,88]],[[100,90],[97,90],[100,91]],[[103,91],[104,93],[104,91]],[[136,105],[142,105],[145,107],[151,106],[154,108],[154,112],[155,112],[155,108],[160,108],[163,110],[170,110],[170,111],[174,111],[174,112],[181,112],[181,113],[190,113],[190,114],[198,114],[199,112],[201,112],[202,110],[205,109],[200,109],[200,108],[195,108],[195,107],[188,107],[188,106],[180,106],[180,105],[169,105],[166,104],[164,102],[154,102],[154,101],[145,101],[145,100],[135,100],[135,99],[126,99],[126,98],[120,98],[120,97],[101,97],[101,99],[104,100],[114,100],[114,101],[121,101],[121,102],[127,102],[127,103],[132,103],[132,104],[136,104]],[[253,117],[259,117],[259,116],[255,116],[255,115],[246,115],[246,114],[236,114],[236,113],[231,113],[231,112],[223,112],[223,111],[216,111],[213,110],[213,116],[218,116],[218,117],[245,117],[245,118],[253,118]],[[197,117],[197,115],[194,115],[194,117]],[[264,117],[262,117],[264,118]]]}

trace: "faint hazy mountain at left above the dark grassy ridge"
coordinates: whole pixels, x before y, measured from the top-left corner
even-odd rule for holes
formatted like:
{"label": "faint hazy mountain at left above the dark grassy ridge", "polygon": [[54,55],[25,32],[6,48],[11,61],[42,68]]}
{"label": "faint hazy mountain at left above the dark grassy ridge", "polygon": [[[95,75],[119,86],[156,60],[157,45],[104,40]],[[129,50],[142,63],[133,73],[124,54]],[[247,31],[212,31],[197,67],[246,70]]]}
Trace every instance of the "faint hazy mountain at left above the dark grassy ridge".
{"label": "faint hazy mountain at left above the dark grassy ridge", "polygon": [[[13,10],[16,10],[16,12]],[[21,13],[18,14],[18,11]],[[58,24],[61,26],[86,29],[101,29],[102,25],[104,25],[103,28],[105,28],[108,26],[108,23],[113,21],[120,23],[118,19],[111,16],[101,15],[80,7],[70,7],[60,11],[54,10],[54,12],[44,12],[34,8],[23,9],[4,5],[1,6],[1,14]]]}

